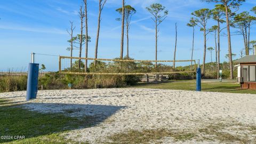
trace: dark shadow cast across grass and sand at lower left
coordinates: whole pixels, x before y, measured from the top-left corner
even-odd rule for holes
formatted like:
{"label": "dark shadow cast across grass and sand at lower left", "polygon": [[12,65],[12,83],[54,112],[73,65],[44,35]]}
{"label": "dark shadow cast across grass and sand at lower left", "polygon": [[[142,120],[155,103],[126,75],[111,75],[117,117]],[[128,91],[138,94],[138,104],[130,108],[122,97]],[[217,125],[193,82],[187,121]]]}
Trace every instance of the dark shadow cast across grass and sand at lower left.
{"label": "dark shadow cast across grass and sand at lower left", "polygon": [[[124,107],[60,103],[0,106],[0,135],[24,135],[25,139],[19,140],[21,143],[31,142],[26,141],[30,138],[47,140],[44,138],[47,135],[95,126],[122,108]],[[15,142],[14,140],[0,139],[0,142]],[[46,143],[54,142],[47,140]]]}

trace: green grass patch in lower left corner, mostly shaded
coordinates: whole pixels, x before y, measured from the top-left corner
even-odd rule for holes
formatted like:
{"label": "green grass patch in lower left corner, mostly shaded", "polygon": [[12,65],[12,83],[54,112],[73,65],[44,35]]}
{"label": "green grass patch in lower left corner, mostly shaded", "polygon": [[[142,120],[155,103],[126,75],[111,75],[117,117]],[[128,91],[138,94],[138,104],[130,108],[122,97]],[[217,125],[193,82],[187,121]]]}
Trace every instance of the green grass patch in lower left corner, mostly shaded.
{"label": "green grass patch in lower left corner, mostly shaded", "polygon": [[[0,99],[0,136],[10,135],[13,139],[0,139],[0,143],[76,143],[65,139],[65,133],[92,126],[94,121],[89,117],[42,114],[20,106],[4,106],[7,102]],[[14,135],[24,135],[25,139],[15,140]]]}

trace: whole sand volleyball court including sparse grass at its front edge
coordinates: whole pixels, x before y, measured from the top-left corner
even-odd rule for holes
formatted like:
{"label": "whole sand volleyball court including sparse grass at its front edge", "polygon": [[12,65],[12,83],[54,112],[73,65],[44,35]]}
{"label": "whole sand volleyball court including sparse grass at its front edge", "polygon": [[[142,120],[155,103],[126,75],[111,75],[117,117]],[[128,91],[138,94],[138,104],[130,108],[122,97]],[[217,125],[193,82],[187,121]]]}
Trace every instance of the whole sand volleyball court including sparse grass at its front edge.
{"label": "whole sand volleyball court including sparse grass at its front edge", "polygon": [[91,126],[65,134],[78,142],[256,143],[253,94],[97,89],[38,91],[29,102],[25,91],[1,98],[42,113],[93,118]]}

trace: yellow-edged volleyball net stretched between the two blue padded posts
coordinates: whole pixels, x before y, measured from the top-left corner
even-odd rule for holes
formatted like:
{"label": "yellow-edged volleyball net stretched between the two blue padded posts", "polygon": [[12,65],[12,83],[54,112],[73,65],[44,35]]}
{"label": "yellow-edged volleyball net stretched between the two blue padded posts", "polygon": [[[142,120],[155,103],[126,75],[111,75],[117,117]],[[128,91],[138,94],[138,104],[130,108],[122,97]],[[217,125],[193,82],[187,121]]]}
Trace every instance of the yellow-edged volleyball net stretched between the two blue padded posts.
{"label": "yellow-edged volleyball net stretched between the two blue padded posts", "polygon": [[[191,64],[192,63],[192,64]],[[175,68],[174,68],[175,65]],[[195,60],[133,60],[59,57],[60,74],[145,75],[196,73]]]}

